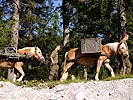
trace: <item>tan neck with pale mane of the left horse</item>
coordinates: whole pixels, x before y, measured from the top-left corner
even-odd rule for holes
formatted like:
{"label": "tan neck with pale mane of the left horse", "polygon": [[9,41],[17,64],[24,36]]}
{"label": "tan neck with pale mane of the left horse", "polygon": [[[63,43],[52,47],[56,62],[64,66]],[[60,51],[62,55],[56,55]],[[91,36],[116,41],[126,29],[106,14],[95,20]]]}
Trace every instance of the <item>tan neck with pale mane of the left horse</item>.
{"label": "tan neck with pale mane of the left horse", "polygon": [[34,47],[25,47],[18,50],[19,54],[28,54],[29,57],[32,57],[34,55],[35,49]]}

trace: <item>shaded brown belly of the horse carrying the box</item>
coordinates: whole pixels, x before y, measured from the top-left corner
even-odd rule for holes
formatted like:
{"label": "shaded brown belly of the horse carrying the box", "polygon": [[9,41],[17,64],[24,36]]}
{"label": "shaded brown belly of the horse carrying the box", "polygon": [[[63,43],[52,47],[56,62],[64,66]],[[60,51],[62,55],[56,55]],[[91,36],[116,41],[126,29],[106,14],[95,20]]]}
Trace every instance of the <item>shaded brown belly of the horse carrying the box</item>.
{"label": "shaded brown belly of the horse carrying the box", "polygon": [[90,66],[94,65],[96,60],[97,58],[95,57],[81,57],[80,59],[78,59],[78,63],[83,66]]}

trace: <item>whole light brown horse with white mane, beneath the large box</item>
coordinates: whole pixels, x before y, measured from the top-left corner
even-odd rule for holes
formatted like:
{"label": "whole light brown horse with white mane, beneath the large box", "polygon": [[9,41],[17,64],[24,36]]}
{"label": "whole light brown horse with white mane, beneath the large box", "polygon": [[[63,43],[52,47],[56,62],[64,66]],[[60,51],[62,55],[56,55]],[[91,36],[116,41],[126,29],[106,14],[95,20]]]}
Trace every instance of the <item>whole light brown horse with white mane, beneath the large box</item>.
{"label": "whole light brown horse with white mane, beneath the large box", "polygon": [[83,66],[90,66],[95,62],[97,63],[95,80],[97,81],[99,80],[98,75],[102,64],[104,64],[110,70],[112,77],[115,77],[114,71],[109,64],[110,62],[109,58],[114,53],[125,57],[129,57],[128,48],[124,43],[119,43],[119,42],[102,45],[100,55],[82,54],[81,50],[78,48],[71,49],[65,54],[64,67],[62,71],[62,77],[60,80],[63,81],[67,79],[68,69],[70,69],[72,79],[75,79],[74,73],[77,64],[81,64]]}

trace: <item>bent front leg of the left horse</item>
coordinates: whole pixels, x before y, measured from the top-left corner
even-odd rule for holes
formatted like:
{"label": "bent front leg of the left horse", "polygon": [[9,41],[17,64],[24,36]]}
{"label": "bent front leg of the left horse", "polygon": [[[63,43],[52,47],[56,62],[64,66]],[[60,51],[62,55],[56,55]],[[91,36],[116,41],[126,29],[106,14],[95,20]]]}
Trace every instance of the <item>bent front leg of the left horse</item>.
{"label": "bent front leg of the left horse", "polygon": [[22,69],[23,62],[16,62],[15,63],[15,68],[20,72],[21,76],[19,79],[17,79],[18,82],[22,81],[23,77],[25,76],[25,73]]}

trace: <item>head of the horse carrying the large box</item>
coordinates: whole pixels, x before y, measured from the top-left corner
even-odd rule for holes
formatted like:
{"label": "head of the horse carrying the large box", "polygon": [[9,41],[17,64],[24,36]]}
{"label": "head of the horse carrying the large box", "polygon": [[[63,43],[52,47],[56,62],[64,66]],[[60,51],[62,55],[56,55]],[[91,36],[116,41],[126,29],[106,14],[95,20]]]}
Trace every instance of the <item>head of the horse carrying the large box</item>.
{"label": "head of the horse carrying the large box", "polygon": [[123,57],[126,57],[126,58],[129,57],[128,47],[127,47],[127,44],[125,44],[124,42],[121,42],[118,44],[117,52]]}

